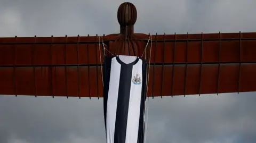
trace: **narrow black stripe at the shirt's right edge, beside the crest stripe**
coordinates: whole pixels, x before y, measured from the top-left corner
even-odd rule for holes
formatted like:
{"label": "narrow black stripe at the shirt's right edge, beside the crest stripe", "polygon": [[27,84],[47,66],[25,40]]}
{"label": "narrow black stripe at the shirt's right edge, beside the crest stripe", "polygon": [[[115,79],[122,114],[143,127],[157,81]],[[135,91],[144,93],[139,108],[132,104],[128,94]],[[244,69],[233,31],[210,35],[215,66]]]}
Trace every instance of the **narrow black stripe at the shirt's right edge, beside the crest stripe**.
{"label": "narrow black stripe at the shirt's right edge, beside the crest stripe", "polygon": [[137,143],[144,142],[144,114],[145,114],[145,100],[146,100],[146,83],[147,83],[147,68],[145,60],[142,61],[142,90],[140,101],[140,120]]}

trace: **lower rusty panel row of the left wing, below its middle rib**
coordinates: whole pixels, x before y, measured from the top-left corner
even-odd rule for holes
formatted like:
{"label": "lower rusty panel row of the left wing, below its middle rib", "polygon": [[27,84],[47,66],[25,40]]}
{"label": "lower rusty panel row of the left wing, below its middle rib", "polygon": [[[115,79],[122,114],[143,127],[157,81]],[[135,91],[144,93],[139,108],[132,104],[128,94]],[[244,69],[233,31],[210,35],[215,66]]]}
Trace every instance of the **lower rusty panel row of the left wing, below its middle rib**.
{"label": "lower rusty panel row of the left wing, below its middle rib", "polygon": [[1,68],[0,78],[4,95],[102,97],[100,68],[95,66],[36,67],[35,72],[32,67]]}

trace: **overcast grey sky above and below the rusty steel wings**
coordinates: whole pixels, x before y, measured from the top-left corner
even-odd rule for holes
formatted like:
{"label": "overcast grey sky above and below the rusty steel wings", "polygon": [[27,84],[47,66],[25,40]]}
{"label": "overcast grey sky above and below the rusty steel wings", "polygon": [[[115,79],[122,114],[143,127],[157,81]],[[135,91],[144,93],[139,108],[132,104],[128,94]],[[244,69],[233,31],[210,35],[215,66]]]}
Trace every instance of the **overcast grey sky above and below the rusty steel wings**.
{"label": "overcast grey sky above and below the rusty steel wings", "polygon": [[[117,9],[123,2],[0,0],[0,37],[118,33]],[[133,3],[138,11],[135,32],[256,31],[255,0]],[[150,99],[147,143],[255,143],[255,94]],[[0,142],[106,142],[103,100],[0,96]]]}

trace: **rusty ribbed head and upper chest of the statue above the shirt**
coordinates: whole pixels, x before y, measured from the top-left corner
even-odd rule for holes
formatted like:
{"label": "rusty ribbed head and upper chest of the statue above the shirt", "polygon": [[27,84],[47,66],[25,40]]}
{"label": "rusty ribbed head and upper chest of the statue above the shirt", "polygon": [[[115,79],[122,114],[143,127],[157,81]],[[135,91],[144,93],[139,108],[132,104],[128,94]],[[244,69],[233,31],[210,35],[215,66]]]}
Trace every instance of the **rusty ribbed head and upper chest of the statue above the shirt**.
{"label": "rusty ribbed head and upper chest of the statue above the shirt", "polygon": [[[120,33],[115,36],[115,40],[111,41],[109,51],[114,55],[131,55],[141,56],[145,47],[142,33],[134,33],[134,24],[137,20],[137,10],[132,3],[123,3],[117,11],[117,20],[120,24]],[[108,53],[107,55],[111,56]]]}

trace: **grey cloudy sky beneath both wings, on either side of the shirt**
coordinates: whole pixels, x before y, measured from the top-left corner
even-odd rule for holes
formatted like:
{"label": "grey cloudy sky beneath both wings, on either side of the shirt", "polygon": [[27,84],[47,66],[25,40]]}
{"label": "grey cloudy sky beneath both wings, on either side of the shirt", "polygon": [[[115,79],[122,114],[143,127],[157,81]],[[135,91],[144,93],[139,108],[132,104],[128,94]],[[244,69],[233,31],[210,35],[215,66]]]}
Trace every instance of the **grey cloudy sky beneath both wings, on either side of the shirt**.
{"label": "grey cloudy sky beneath both wings, on either side of the shirt", "polygon": [[[255,99],[254,93],[150,98],[147,142],[254,142]],[[102,99],[2,96],[0,103],[5,140],[105,142]]]}

